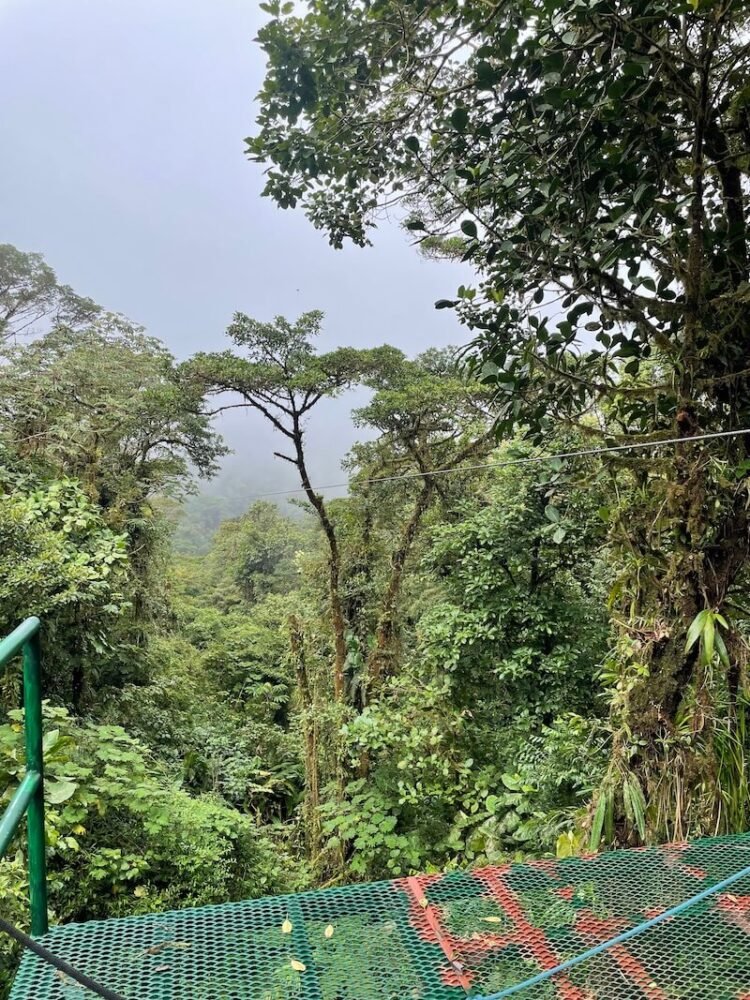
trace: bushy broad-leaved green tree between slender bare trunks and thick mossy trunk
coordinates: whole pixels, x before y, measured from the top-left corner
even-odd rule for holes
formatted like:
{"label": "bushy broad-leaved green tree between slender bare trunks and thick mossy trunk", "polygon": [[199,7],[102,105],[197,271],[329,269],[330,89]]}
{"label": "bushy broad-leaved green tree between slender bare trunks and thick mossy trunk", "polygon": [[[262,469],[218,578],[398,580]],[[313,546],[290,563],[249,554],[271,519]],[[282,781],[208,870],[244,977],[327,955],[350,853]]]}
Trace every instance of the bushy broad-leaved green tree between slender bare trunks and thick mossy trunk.
{"label": "bushy broad-leaved green tree between slender bare trunks and thick mossy trunk", "polygon": [[404,663],[347,727],[369,780],[324,807],[351,870],[494,863],[580,822],[606,767],[587,747],[606,712],[604,580],[591,578],[606,529],[595,469],[585,486],[570,471],[489,470],[430,525]]}

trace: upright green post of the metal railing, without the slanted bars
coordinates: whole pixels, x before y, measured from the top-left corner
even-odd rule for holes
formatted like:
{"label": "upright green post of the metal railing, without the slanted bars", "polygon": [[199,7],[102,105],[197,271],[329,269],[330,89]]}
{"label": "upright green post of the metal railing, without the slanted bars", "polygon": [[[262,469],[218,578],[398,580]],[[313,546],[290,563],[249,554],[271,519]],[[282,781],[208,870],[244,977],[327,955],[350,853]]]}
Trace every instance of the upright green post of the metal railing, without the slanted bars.
{"label": "upright green post of the metal railing, without the slanted bars", "polygon": [[44,836],[44,750],[42,743],[42,657],[39,633],[30,636],[23,647],[23,704],[26,729],[26,771],[38,772],[41,780],[29,803],[29,895],[31,933],[46,934],[47,859]]}

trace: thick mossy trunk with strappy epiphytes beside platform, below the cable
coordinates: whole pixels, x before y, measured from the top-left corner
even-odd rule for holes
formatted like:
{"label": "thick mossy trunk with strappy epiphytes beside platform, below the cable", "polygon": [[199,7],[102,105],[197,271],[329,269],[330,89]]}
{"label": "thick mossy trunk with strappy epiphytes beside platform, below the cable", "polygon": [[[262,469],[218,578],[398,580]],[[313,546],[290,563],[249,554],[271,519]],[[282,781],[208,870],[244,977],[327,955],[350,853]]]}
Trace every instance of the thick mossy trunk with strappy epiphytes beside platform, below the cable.
{"label": "thick mossy trunk with strappy epiphytes beside platform, below the cable", "polygon": [[[731,481],[743,445],[728,451],[718,463],[699,444],[678,448],[674,461],[657,461],[656,472],[641,475],[648,507],[638,489],[621,511],[627,545],[620,557],[628,570],[615,614],[620,679],[612,773],[602,793],[615,798],[620,840],[682,839],[747,822],[750,803],[736,801],[746,786],[746,647],[733,623],[732,594],[750,554],[748,496],[741,479]],[[712,625],[718,637],[708,650],[702,633],[689,637],[704,612],[726,622]],[[642,820],[633,778],[643,794]]]}

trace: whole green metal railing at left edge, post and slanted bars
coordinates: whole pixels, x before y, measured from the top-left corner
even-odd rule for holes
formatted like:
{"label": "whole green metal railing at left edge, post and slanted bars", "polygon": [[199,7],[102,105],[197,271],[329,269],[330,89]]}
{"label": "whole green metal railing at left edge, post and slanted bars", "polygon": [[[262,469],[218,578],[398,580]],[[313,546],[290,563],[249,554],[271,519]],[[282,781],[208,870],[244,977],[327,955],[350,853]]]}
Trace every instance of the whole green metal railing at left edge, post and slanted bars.
{"label": "whole green metal railing at left edge, post and slanted bars", "polygon": [[8,808],[0,816],[0,858],[5,854],[21,820],[26,815],[31,933],[35,937],[46,934],[48,930],[42,749],[42,656],[39,628],[38,618],[27,618],[0,642],[0,669],[19,653],[23,655],[26,736],[26,775],[16,789]]}

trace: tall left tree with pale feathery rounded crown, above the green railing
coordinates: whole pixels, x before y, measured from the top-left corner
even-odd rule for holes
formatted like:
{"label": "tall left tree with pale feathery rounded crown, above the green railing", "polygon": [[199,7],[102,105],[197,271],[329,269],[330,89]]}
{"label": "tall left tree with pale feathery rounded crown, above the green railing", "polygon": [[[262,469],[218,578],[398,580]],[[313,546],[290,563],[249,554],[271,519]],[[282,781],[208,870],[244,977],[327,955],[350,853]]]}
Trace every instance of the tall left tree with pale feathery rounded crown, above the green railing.
{"label": "tall left tree with pale feathery rounded crown, above the green railing", "polygon": [[[200,413],[200,399],[175,380],[164,348],[111,318],[85,330],[57,327],[7,351],[0,368],[0,443],[11,485],[24,476],[32,484],[16,487],[21,496],[26,488],[44,497],[56,483],[70,487],[58,497],[68,520],[59,516],[51,524],[63,552],[76,537],[75,510],[68,505],[83,508],[83,523],[95,514],[110,533],[124,536],[127,584],[107,640],[85,602],[73,601],[66,612],[66,672],[72,677],[69,688],[58,690],[81,711],[95,693],[94,677],[100,691],[133,679],[147,623],[164,610],[155,574],[166,536],[159,499],[189,489],[192,469],[210,474],[224,449]],[[46,503],[48,511],[55,509]],[[80,566],[84,561],[81,552]],[[79,563],[72,559],[71,565]],[[9,605],[14,614],[38,606]],[[92,645],[99,647],[97,657],[90,655]]]}

